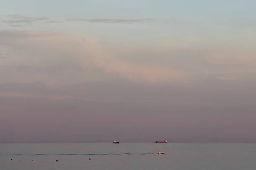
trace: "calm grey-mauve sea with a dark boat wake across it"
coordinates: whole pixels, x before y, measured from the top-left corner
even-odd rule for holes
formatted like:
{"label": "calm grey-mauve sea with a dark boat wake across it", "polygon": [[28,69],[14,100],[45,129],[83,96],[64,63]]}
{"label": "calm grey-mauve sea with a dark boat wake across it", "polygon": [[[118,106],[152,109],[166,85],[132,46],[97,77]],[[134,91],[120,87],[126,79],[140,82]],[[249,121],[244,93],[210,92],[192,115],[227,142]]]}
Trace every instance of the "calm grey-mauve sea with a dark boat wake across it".
{"label": "calm grey-mauve sea with a dark boat wake across it", "polygon": [[256,170],[256,144],[0,144],[0,170]]}

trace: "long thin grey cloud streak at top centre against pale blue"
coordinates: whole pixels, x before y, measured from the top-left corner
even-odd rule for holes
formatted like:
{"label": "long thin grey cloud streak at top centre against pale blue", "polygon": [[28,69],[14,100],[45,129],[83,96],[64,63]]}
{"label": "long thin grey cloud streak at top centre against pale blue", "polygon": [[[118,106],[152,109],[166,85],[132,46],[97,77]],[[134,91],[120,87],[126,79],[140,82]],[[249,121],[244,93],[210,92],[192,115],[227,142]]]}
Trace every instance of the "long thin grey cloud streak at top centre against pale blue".
{"label": "long thin grey cloud streak at top centre against pale blue", "polygon": [[145,18],[145,19],[106,19],[106,18],[100,18],[100,19],[79,19],[79,18],[69,18],[67,21],[87,21],[91,23],[142,23],[145,21],[154,21],[156,19],[154,18]]}

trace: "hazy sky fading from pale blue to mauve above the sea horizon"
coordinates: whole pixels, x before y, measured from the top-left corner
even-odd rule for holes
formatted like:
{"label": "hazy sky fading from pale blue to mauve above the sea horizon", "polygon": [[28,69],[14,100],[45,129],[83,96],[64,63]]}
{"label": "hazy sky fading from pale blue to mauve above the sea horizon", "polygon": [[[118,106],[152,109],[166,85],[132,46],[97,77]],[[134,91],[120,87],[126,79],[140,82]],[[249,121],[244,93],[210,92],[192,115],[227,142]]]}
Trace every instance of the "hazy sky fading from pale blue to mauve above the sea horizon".
{"label": "hazy sky fading from pale blue to mauve above the sea horizon", "polygon": [[0,142],[256,142],[254,0],[0,0]]}

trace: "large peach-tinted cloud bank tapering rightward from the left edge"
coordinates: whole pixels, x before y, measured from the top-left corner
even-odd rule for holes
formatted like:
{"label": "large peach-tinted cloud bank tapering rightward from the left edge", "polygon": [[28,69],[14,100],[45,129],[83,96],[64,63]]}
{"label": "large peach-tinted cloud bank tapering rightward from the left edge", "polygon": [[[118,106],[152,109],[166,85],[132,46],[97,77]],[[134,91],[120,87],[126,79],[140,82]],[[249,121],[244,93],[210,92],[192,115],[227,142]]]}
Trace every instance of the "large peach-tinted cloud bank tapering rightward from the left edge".
{"label": "large peach-tinted cloud bank tapering rightward from the left edge", "polygon": [[[118,75],[131,81],[171,81],[173,78],[186,77],[183,71],[120,59],[106,50],[95,38],[78,39],[55,32],[37,31],[1,31],[0,36],[0,45],[13,54],[12,60],[7,61],[8,69],[19,66],[40,68],[73,65],[72,67],[84,71],[98,69],[104,74]],[[13,60],[16,62],[12,62]],[[86,81],[86,78],[81,79]]]}

